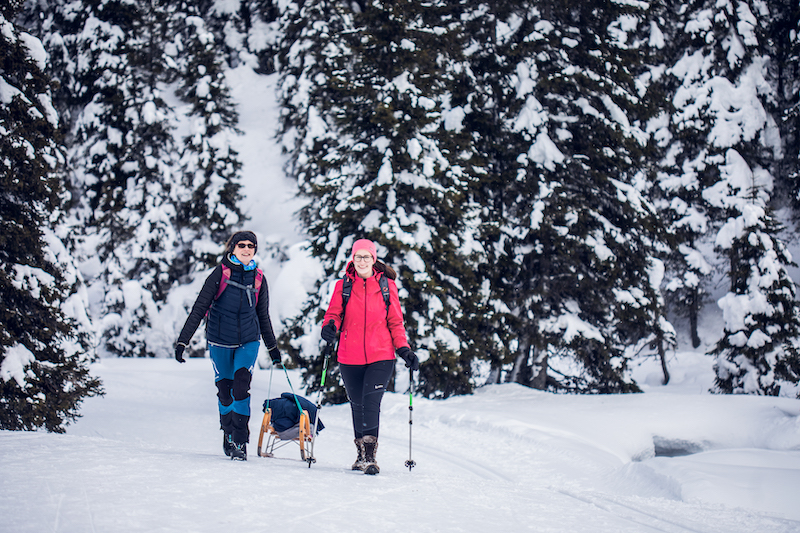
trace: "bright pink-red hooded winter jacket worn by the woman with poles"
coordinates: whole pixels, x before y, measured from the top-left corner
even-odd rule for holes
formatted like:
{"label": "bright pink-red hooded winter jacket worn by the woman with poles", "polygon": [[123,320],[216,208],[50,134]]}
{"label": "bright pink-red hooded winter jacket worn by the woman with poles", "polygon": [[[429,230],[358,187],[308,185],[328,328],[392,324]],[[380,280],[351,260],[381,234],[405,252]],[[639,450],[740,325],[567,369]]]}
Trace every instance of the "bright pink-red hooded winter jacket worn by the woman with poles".
{"label": "bright pink-red hooded winter jacket worn by the woman with poles", "polygon": [[347,265],[346,275],[353,280],[353,288],[342,324],[342,287],[344,280],[336,282],[336,287],[325,313],[323,324],[333,320],[336,330],[341,331],[338,359],[345,365],[365,365],[375,361],[395,358],[394,352],[408,346],[406,329],[403,326],[403,311],[397,285],[389,279],[389,312],[381,295],[378,279],[384,274],[375,272],[368,279],[355,273],[353,264]]}

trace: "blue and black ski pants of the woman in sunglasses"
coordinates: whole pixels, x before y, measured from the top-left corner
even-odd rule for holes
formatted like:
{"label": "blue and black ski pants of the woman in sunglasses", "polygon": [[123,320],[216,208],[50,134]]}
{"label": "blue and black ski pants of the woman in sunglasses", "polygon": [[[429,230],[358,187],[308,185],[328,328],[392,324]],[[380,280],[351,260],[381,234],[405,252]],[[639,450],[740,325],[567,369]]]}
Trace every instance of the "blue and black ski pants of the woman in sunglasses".
{"label": "blue and black ski pants of the woman in sunglasses", "polygon": [[258,357],[258,341],[235,348],[209,345],[209,352],[214,365],[222,430],[230,433],[234,442],[248,442],[250,381]]}

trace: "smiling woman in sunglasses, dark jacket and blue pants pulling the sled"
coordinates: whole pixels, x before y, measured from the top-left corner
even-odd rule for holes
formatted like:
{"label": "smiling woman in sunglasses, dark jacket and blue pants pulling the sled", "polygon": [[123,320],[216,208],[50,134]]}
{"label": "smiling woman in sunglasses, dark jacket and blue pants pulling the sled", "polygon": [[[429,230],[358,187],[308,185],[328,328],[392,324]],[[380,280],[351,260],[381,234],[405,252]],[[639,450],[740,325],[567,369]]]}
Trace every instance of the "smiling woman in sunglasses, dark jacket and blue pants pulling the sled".
{"label": "smiling woman in sunglasses, dark jacket and blue pants pulling the sled", "polygon": [[269,317],[269,289],[254,259],[257,249],[252,231],[239,231],[228,239],[222,262],[203,284],[175,345],[175,359],[185,362],[183,352],[208,316],[206,340],[219,398],[222,446],[225,455],[242,461],[247,460],[250,380],[259,337],[272,362],[281,360]]}

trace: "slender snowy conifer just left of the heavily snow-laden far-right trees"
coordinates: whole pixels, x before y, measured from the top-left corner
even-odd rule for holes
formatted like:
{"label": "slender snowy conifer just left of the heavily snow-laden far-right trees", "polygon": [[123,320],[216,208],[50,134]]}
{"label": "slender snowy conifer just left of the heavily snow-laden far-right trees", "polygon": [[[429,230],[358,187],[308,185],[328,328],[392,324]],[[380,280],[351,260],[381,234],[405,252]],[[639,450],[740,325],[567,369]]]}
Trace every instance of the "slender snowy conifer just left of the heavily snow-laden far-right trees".
{"label": "slender snowy conifer just left of the heavily snow-laden far-right trees", "polygon": [[706,150],[706,132],[686,127],[688,120],[676,118],[683,111],[680,101],[688,89],[681,86],[683,68],[691,62],[686,51],[697,46],[696,36],[686,31],[685,17],[665,6],[663,16],[652,20],[650,72],[645,76],[667,99],[648,124],[656,148],[651,158],[657,169],[651,197],[671,249],[665,258],[667,301],[676,316],[688,319],[696,348],[701,343],[698,317],[705,304],[705,286],[713,273],[713,228],[721,215],[703,197],[704,188],[716,179],[712,169],[698,164]]}

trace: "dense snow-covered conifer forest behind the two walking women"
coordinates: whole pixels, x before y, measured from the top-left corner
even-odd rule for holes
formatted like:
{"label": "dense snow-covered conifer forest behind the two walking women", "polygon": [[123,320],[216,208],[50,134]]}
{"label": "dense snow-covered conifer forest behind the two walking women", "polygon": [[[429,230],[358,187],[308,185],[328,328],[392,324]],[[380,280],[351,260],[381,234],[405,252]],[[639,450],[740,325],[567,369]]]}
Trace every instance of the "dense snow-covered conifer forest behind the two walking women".
{"label": "dense snow-covered conifer forest behind the two walking women", "polygon": [[800,397],[799,32],[796,0],[6,1],[0,428],[64,431],[98,357],[172,356],[164,309],[247,225],[242,66],[321,265],[280,328],[309,390],[363,237],[426,397],[637,392],[708,306],[714,392]]}

